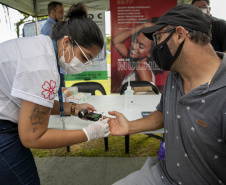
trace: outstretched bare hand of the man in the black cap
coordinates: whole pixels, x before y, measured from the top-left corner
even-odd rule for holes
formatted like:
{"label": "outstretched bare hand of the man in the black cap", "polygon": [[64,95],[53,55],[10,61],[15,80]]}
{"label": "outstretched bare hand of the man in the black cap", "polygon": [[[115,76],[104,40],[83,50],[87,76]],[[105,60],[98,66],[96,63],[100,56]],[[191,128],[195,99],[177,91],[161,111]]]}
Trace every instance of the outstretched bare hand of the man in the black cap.
{"label": "outstretched bare hand of the man in the black cap", "polygon": [[116,111],[110,111],[108,114],[116,117],[109,118],[110,135],[124,136],[129,134],[129,121],[123,114]]}

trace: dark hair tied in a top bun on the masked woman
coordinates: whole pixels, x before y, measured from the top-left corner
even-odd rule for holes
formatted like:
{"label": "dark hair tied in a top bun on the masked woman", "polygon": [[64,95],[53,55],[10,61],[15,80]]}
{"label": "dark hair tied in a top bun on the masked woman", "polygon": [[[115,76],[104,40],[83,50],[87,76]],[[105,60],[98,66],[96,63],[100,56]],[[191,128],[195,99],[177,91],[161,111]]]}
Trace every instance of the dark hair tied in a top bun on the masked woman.
{"label": "dark hair tied in a top bun on the masked woman", "polygon": [[67,12],[66,18],[58,22],[52,29],[51,38],[59,40],[64,36],[69,36],[70,42],[76,42],[84,47],[90,48],[93,45],[104,46],[104,38],[97,24],[90,18],[82,3],[72,5]]}

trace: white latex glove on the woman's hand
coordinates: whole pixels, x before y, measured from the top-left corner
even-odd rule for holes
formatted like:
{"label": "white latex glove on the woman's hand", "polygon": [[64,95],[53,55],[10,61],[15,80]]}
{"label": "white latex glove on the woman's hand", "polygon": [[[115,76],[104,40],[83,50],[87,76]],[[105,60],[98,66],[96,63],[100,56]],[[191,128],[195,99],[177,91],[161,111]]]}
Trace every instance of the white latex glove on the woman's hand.
{"label": "white latex glove on the woman's hand", "polygon": [[88,141],[99,139],[102,137],[107,137],[110,134],[108,118],[102,121],[94,122],[82,130],[85,132]]}

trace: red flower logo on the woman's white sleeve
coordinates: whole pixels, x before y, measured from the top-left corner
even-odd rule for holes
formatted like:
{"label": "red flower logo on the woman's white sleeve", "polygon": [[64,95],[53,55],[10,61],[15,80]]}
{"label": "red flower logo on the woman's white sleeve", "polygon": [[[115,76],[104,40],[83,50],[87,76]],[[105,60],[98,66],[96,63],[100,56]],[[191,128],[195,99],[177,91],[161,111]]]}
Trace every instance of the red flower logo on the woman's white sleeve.
{"label": "red flower logo on the woman's white sleeve", "polygon": [[44,89],[44,91],[42,91],[42,95],[45,99],[52,100],[55,98],[55,94],[57,93],[57,86],[55,81],[45,81],[45,83],[42,85],[42,88]]}

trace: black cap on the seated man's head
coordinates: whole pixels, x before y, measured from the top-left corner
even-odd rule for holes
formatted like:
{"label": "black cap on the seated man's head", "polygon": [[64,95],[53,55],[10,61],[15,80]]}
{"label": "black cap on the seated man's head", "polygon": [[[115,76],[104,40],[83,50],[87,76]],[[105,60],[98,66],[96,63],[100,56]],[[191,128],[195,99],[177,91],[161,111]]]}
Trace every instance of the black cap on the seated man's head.
{"label": "black cap on the seated man's head", "polygon": [[191,30],[201,31],[211,37],[213,19],[198,7],[190,4],[177,5],[167,11],[154,26],[142,29],[142,33],[152,40],[155,31],[167,25],[183,26]]}

